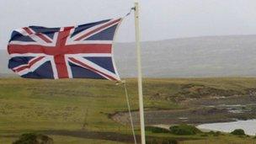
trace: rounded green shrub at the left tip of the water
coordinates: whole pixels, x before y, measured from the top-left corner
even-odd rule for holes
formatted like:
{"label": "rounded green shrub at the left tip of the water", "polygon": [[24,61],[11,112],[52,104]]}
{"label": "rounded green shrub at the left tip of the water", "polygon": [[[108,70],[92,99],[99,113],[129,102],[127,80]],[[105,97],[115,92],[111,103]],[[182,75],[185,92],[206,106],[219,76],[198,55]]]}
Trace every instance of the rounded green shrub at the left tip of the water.
{"label": "rounded green shrub at the left tip of the water", "polygon": [[197,133],[201,133],[201,131],[195,126],[184,124],[171,126],[170,131],[175,135],[195,135]]}

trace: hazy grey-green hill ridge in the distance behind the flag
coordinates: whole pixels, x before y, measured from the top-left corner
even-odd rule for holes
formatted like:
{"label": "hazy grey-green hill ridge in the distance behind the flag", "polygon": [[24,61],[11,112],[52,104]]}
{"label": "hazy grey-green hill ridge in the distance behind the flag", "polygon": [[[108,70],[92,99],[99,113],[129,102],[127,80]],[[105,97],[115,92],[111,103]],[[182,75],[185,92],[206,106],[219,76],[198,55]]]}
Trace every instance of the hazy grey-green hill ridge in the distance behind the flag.
{"label": "hazy grey-green hill ridge in the distance behind the flag", "polygon": [[[121,77],[136,77],[134,43],[117,43]],[[205,36],[141,43],[144,77],[256,76],[256,35]],[[0,73],[9,73],[0,51]]]}

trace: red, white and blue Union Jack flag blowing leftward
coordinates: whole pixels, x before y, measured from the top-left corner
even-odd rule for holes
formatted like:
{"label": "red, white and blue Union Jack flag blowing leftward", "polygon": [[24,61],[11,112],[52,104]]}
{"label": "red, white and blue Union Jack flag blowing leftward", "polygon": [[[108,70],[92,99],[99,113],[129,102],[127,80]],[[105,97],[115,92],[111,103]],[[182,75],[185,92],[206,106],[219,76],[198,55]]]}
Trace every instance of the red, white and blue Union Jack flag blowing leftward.
{"label": "red, white and blue Union Jack flag blowing leftward", "polygon": [[120,80],[112,43],[122,19],[71,27],[29,26],[13,31],[8,68],[27,78]]}

